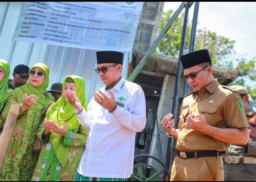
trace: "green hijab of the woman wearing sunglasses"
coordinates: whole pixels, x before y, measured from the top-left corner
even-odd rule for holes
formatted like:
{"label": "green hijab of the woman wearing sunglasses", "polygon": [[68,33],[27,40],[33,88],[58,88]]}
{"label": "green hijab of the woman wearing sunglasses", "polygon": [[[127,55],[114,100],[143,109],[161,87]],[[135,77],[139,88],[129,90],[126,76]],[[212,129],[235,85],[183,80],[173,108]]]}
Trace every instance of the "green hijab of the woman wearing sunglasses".
{"label": "green hijab of the woman wearing sunglasses", "polygon": [[[42,105],[48,106],[48,103],[50,102],[50,100],[49,100],[49,96],[48,96],[48,92],[46,91],[46,88],[48,87],[48,84],[49,84],[49,68],[43,63],[35,63],[30,68],[30,70],[32,70],[35,67],[41,68],[44,71],[45,73],[44,82],[40,86],[34,87],[28,81],[25,85],[20,86],[19,88],[27,92],[28,95],[36,95],[37,102],[39,102]],[[30,76],[30,73],[29,73],[29,76]]]}

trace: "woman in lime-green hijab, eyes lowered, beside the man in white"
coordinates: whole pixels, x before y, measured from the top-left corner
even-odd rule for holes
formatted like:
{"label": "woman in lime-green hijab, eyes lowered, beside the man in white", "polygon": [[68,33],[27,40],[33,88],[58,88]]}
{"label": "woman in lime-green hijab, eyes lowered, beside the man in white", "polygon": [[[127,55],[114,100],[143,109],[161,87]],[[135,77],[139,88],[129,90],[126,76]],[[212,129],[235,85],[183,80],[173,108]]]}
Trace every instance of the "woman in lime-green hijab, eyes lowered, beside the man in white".
{"label": "woman in lime-green hijab, eyes lowered, beside the man in white", "polygon": [[68,92],[75,92],[83,108],[87,108],[84,80],[76,75],[66,76],[62,94],[46,112],[38,129],[44,142],[32,181],[74,181],[86,145],[88,131],[80,125],[69,104]]}

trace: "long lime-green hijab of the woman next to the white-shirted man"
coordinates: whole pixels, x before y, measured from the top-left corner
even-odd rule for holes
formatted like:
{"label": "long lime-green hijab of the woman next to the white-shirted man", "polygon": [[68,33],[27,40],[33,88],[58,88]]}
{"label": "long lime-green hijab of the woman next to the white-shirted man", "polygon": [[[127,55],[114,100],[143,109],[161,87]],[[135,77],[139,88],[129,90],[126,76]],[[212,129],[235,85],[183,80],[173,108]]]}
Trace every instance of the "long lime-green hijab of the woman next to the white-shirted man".
{"label": "long lime-green hijab of the woman next to the white-shirted man", "polygon": [[[62,90],[67,78],[71,78],[75,82],[76,96],[80,100],[83,108],[87,111],[84,80],[80,76],[76,75],[66,76],[62,84]],[[62,126],[61,121],[63,121],[67,125],[67,130],[73,130],[80,124],[76,114],[74,113],[74,109],[75,107],[65,100],[62,93],[60,98],[46,111],[45,118],[54,121],[56,124],[58,124],[58,126]],[[51,131],[49,141],[53,146],[54,152],[59,159],[61,166],[66,166],[69,146],[61,145],[61,136],[62,135]]]}

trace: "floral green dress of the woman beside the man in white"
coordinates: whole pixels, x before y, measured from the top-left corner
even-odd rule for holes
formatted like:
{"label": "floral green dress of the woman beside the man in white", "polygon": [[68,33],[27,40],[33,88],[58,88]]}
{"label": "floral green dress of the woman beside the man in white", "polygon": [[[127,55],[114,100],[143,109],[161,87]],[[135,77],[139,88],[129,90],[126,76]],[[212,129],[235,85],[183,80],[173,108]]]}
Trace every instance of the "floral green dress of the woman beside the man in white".
{"label": "floral green dress of the woman beside the man in white", "polygon": [[[40,139],[42,139],[42,125],[38,132]],[[61,136],[61,145],[70,146],[65,167],[61,167],[49,142],[49,137],[46,138],[31,181],[74,181],[86,145],[87,134],[88,131],[82,125],[79,125],[72,131],[67,130],[65,137]]]}

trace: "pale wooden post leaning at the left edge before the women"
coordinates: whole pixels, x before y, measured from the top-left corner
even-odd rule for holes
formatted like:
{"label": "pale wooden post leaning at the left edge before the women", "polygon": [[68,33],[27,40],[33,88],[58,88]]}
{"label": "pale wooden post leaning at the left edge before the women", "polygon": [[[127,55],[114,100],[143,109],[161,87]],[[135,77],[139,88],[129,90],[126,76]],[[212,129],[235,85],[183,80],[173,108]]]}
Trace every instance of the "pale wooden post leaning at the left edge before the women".
{"label": "pale wooden post leaning at the left edge before the women", "polygon": [[8,115],[4,124],[3,132],[0,137],[0,146],[1,146],[0,147],[0,169],[4,161],[4,156],[12,135],[14,124],[19,114],[19,108],[20,108],[20,103],[12,101],[10,110],[8,112]]}

